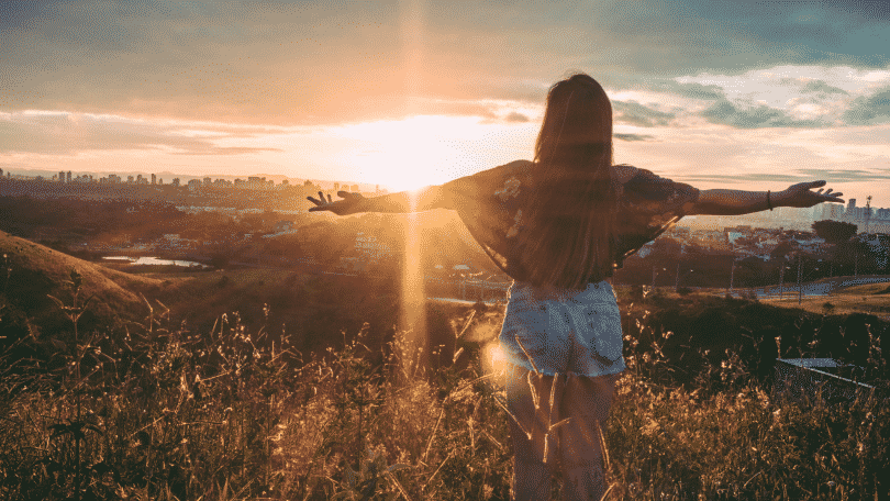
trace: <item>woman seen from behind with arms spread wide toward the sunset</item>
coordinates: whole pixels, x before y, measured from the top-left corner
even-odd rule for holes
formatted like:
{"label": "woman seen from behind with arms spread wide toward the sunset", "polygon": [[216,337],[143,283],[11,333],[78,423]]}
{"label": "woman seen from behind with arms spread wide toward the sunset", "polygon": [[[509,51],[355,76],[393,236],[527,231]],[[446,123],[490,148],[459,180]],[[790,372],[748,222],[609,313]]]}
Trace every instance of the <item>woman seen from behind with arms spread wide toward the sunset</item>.
{"label": "woman seen from behind with arms spread wide toward the sunset", "polygon": [[[601,423],[624,370],[621,315],[609,282],[624,258],[683,215],[746,214],[843,202],[811,191],[698,190],[612,162],[612,107],[588,75],[547,94],[534,162],[513,162],[407,192],[364,198],[319,192],[310,211],[335,214],[452,209],[514,282],[500,333],[515,452],[512,497],[547,499],[560,465],[566,499],[605,491]],[[557,446],[556,439],[561,446]]]}

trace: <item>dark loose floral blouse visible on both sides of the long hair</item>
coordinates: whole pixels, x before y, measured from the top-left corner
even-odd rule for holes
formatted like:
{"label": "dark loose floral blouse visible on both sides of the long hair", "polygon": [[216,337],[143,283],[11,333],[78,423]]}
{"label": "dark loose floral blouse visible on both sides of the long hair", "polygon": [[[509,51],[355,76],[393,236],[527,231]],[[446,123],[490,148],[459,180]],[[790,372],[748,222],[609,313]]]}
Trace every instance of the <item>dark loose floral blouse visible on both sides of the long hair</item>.
{"label": "dark loose floral blouse visible on both sides of the long hair", "polygon": [[[504,272],[516,276],[516,235],[523,225],[523,207],[529,197],[533,163],[516,160],[461,177],[443,185],[453,207],[470,234]],[[618,188],[618,234],[615,268],[646,243],[655,240],[686,215],[699,198],[699,190],[631,166],[630,180]],[[627,177],[627,176],[624,176]]]}

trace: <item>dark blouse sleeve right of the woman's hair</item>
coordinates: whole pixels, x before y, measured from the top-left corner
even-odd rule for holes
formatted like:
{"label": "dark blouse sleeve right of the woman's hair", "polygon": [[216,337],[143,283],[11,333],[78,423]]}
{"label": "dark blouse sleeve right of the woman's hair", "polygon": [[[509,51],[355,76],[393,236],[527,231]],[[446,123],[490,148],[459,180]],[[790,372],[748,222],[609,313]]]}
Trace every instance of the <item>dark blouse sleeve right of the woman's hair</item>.
{"label": "dark blouse sleeve right of the woman's hair", "polygon": [[633,175],[620,193],[618,267],[689,213],[699,199],[697,188],[631,168]]}

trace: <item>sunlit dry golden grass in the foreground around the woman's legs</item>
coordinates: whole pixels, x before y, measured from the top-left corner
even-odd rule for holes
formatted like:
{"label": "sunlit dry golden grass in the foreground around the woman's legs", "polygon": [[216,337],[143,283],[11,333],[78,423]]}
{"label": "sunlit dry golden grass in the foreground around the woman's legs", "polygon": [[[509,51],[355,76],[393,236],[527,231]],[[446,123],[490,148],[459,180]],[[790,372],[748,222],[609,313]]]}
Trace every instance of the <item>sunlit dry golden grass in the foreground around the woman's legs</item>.
{"label": "sunlit dry golden grass in the foreground around the woman's legs", "polygon": [[[786,402],[733,354],[672,385],[670,333],[646,319],[607,427],[609,499],[890,496],[887,402]],[[375,367],[365,331],[304,357],[237,316],[169,325],[148,313],[129,336],[81,335],[55,371],[13,359],[30,338],[7,342],[0,498],[509,499],[504,396],[478,356],[424,370],[400,335]]]}

